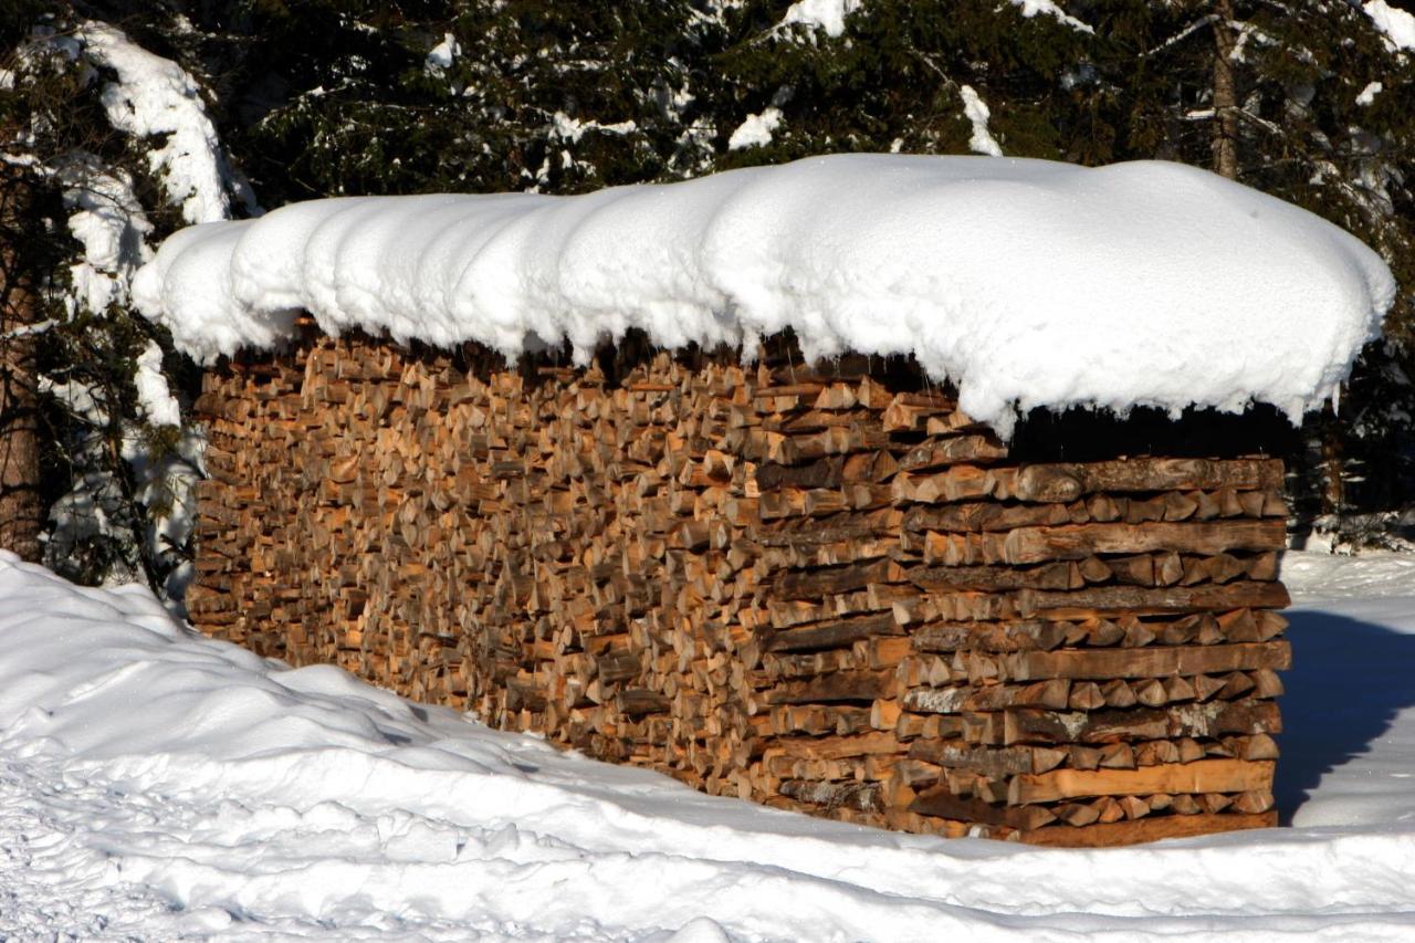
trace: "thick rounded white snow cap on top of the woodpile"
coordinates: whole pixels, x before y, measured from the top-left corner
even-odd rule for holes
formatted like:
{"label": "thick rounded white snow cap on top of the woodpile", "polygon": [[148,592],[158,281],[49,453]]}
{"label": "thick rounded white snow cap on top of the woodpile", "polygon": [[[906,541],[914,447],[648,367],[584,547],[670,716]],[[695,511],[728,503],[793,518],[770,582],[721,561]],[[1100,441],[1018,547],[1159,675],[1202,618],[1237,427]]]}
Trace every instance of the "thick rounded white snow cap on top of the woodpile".
{"label": "thick rounded white snow cap on top of the woodpile", "polygon": [[1333,395],[1395,283],[1354,236],[1165,161],[846,154],[580,197],[296,204],[171,236],[133,297],[200,360],[324,330],[665,347],[795,328],[807,357],[914,354],[971,415]]}

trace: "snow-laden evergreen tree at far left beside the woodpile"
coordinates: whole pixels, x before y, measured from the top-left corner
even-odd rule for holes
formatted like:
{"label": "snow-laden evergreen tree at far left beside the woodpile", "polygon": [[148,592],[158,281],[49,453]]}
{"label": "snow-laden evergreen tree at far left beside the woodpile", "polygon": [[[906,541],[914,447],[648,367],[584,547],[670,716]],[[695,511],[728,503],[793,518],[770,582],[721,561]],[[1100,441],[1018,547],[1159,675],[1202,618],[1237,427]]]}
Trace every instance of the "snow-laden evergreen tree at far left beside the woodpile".
{"label": "snow-laden evergreen tree at far left beside the woodpile", "polygon": [[[127,287],[151,238],[229,215],[243,188],[187,71],[78,10],[31,13],[8,37],[0,99],[6,197],[27,212],[7,219],[0,251],[24,261],[28,289],[30,330],[8,333],[27,355],[44,446],[44,559],[75,579],[137,579],[177,596],[200,436],[171,389],[192,371],[164,355],[163,331],[129,307]],[[185,27],[163,10],[126,23],[154,45],[160,27]]]}

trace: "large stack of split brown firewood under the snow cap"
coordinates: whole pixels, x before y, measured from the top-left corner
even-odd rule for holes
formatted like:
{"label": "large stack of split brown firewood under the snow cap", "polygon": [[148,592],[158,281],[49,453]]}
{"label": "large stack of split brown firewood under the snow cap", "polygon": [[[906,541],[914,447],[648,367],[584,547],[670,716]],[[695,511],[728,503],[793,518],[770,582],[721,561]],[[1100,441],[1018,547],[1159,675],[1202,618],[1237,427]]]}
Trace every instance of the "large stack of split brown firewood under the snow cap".
{"label": "large stack of split brown firewood under the snow cap", "polygon": [[313,334],[228,364],[198,404],[191,617],[862,824],[1274,824],[1281,463],[1020,463],[877,368],[507,370]]}

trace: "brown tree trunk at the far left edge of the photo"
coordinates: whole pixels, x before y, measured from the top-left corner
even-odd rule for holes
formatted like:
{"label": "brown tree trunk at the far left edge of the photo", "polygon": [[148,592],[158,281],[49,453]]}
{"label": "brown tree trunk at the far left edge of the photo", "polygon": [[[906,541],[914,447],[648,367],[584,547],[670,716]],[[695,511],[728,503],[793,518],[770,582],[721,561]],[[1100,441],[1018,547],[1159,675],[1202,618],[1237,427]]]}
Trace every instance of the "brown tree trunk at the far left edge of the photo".
{"label": "brown tree trunk at the far left edge of the photo", "polygon": [[0,166],[0,548],[21,559],[42,552],[40,438],[34,384],[33,272],[27,263],[30,183],[21,167]]}

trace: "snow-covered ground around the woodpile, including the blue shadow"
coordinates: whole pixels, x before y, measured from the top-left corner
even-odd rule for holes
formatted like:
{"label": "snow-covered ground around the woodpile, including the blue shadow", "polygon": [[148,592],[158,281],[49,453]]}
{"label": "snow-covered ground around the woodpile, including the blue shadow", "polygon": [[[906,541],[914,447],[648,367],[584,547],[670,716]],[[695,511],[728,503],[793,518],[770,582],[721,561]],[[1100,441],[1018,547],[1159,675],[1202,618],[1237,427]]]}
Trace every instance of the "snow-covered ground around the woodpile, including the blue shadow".
{"label": "snow-covered ground around the woodpile, including the blue shadow", "polygon": [[0,552],[0,939],[1415,939],[1415,559],[1288,579],[1292,824],[1056,851],[710,799]]}

